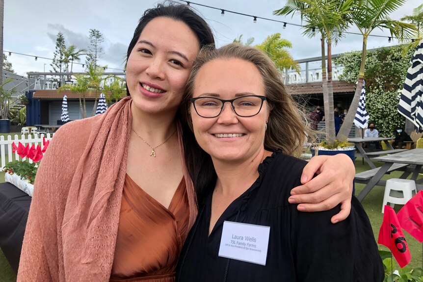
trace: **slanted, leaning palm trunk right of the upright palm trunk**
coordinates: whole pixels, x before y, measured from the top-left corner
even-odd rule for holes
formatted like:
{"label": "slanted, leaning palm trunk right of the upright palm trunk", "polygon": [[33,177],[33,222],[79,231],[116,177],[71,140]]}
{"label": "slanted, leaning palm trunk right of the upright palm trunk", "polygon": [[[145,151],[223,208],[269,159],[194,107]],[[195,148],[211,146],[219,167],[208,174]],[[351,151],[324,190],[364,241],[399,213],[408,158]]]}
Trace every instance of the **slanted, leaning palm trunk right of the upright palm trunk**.
{"label": "slanted, leaning palm trunk right of the upright palm trunk", "polygon": [[338,132],[337,139],[343,140],[348,137],[349,131],[351,131],[352,124],[354,122],[355,113],[357,112],[358,103],[360,102],[361,89],[363,88],[364,72],[366,66],[366,48],[367,48],[367,36],[363,37],[363,50],[361,51],[361,65],[360,72],[358,75],[357,86],[355,88],[354,98],[352,99],[351,105],[349,106],[348,113],[345,116],[344,123]]}

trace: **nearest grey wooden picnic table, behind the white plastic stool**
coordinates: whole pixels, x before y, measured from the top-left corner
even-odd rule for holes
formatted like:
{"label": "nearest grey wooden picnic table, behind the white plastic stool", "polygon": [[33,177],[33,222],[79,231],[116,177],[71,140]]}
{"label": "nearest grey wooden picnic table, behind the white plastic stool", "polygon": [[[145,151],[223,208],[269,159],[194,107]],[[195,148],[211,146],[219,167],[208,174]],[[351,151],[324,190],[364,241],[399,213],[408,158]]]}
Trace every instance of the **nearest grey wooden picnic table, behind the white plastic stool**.
{"label": "nearest grey wooden picnic table, behind the white plastic stool", "polygon": [[[386,181],[380,179],[385,173],[393,170],[404,170],[404,173],[399,177],[401,179],[406,179],[412,173],[411,179],[416,181],[417,190],[423,190],[423,179],[417,180],[419,173],[422,172],[423,149],[412,149],[397,154],[379,156],[375,157],[374,160],[384,162],[384,164],[380,168],[370,170],[373,176],[371,178],[369,177],[369,180],[366,180],[366,186],[357,196],[360,202],[369,194],[370,190],[373,189],[375,185],[385,186]],[[392,169],[393,167],[397,168]],[[366,173],[367,172],[363,172],[360,174]],[[356,179],[356,181],[357,180],[359,179]]]}

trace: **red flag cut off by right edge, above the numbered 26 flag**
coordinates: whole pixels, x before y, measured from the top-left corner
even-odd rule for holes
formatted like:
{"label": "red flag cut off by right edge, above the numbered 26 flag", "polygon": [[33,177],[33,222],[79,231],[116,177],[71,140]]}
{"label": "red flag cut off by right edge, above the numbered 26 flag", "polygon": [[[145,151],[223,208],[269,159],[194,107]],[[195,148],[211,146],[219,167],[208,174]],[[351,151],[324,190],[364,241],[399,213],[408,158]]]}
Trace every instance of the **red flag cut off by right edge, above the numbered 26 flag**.
{"label": "red flag cut off by right edge, above the numbered 26 flag", "polygon": [[402,228],[423,242],[423,191],[417,193],[398,211],[398,221]]}

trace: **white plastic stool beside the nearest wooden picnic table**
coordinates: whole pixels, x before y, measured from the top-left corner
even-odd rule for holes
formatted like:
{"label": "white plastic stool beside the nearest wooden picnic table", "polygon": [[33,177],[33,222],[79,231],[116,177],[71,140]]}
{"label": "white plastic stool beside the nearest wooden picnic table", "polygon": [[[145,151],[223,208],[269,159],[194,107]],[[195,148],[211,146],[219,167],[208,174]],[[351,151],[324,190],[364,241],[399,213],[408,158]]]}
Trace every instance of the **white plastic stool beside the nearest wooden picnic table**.
{"label": "white plastic stool beside the nearest wooden picnic table", "polygon": [[[402,193],[401,193],[402,192]],[[390,203],[392,207],[395,204],[405,205],[408,200],[416,195],[416,182],[410,179],[392,178],[386,180],[385,196],[383,196],[382,213],[385,205]]]}

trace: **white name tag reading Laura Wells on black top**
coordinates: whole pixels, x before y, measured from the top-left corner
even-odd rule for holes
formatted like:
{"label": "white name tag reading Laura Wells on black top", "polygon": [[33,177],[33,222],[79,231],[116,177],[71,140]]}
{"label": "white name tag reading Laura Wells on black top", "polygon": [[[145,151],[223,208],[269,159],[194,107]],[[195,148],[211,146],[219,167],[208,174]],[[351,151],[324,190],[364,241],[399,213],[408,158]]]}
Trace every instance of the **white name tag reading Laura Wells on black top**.
{"label": "white name tag reading Laura Wells on black top", "polygon": [[266,265],[269,226],[225,221],[219,256]]}

